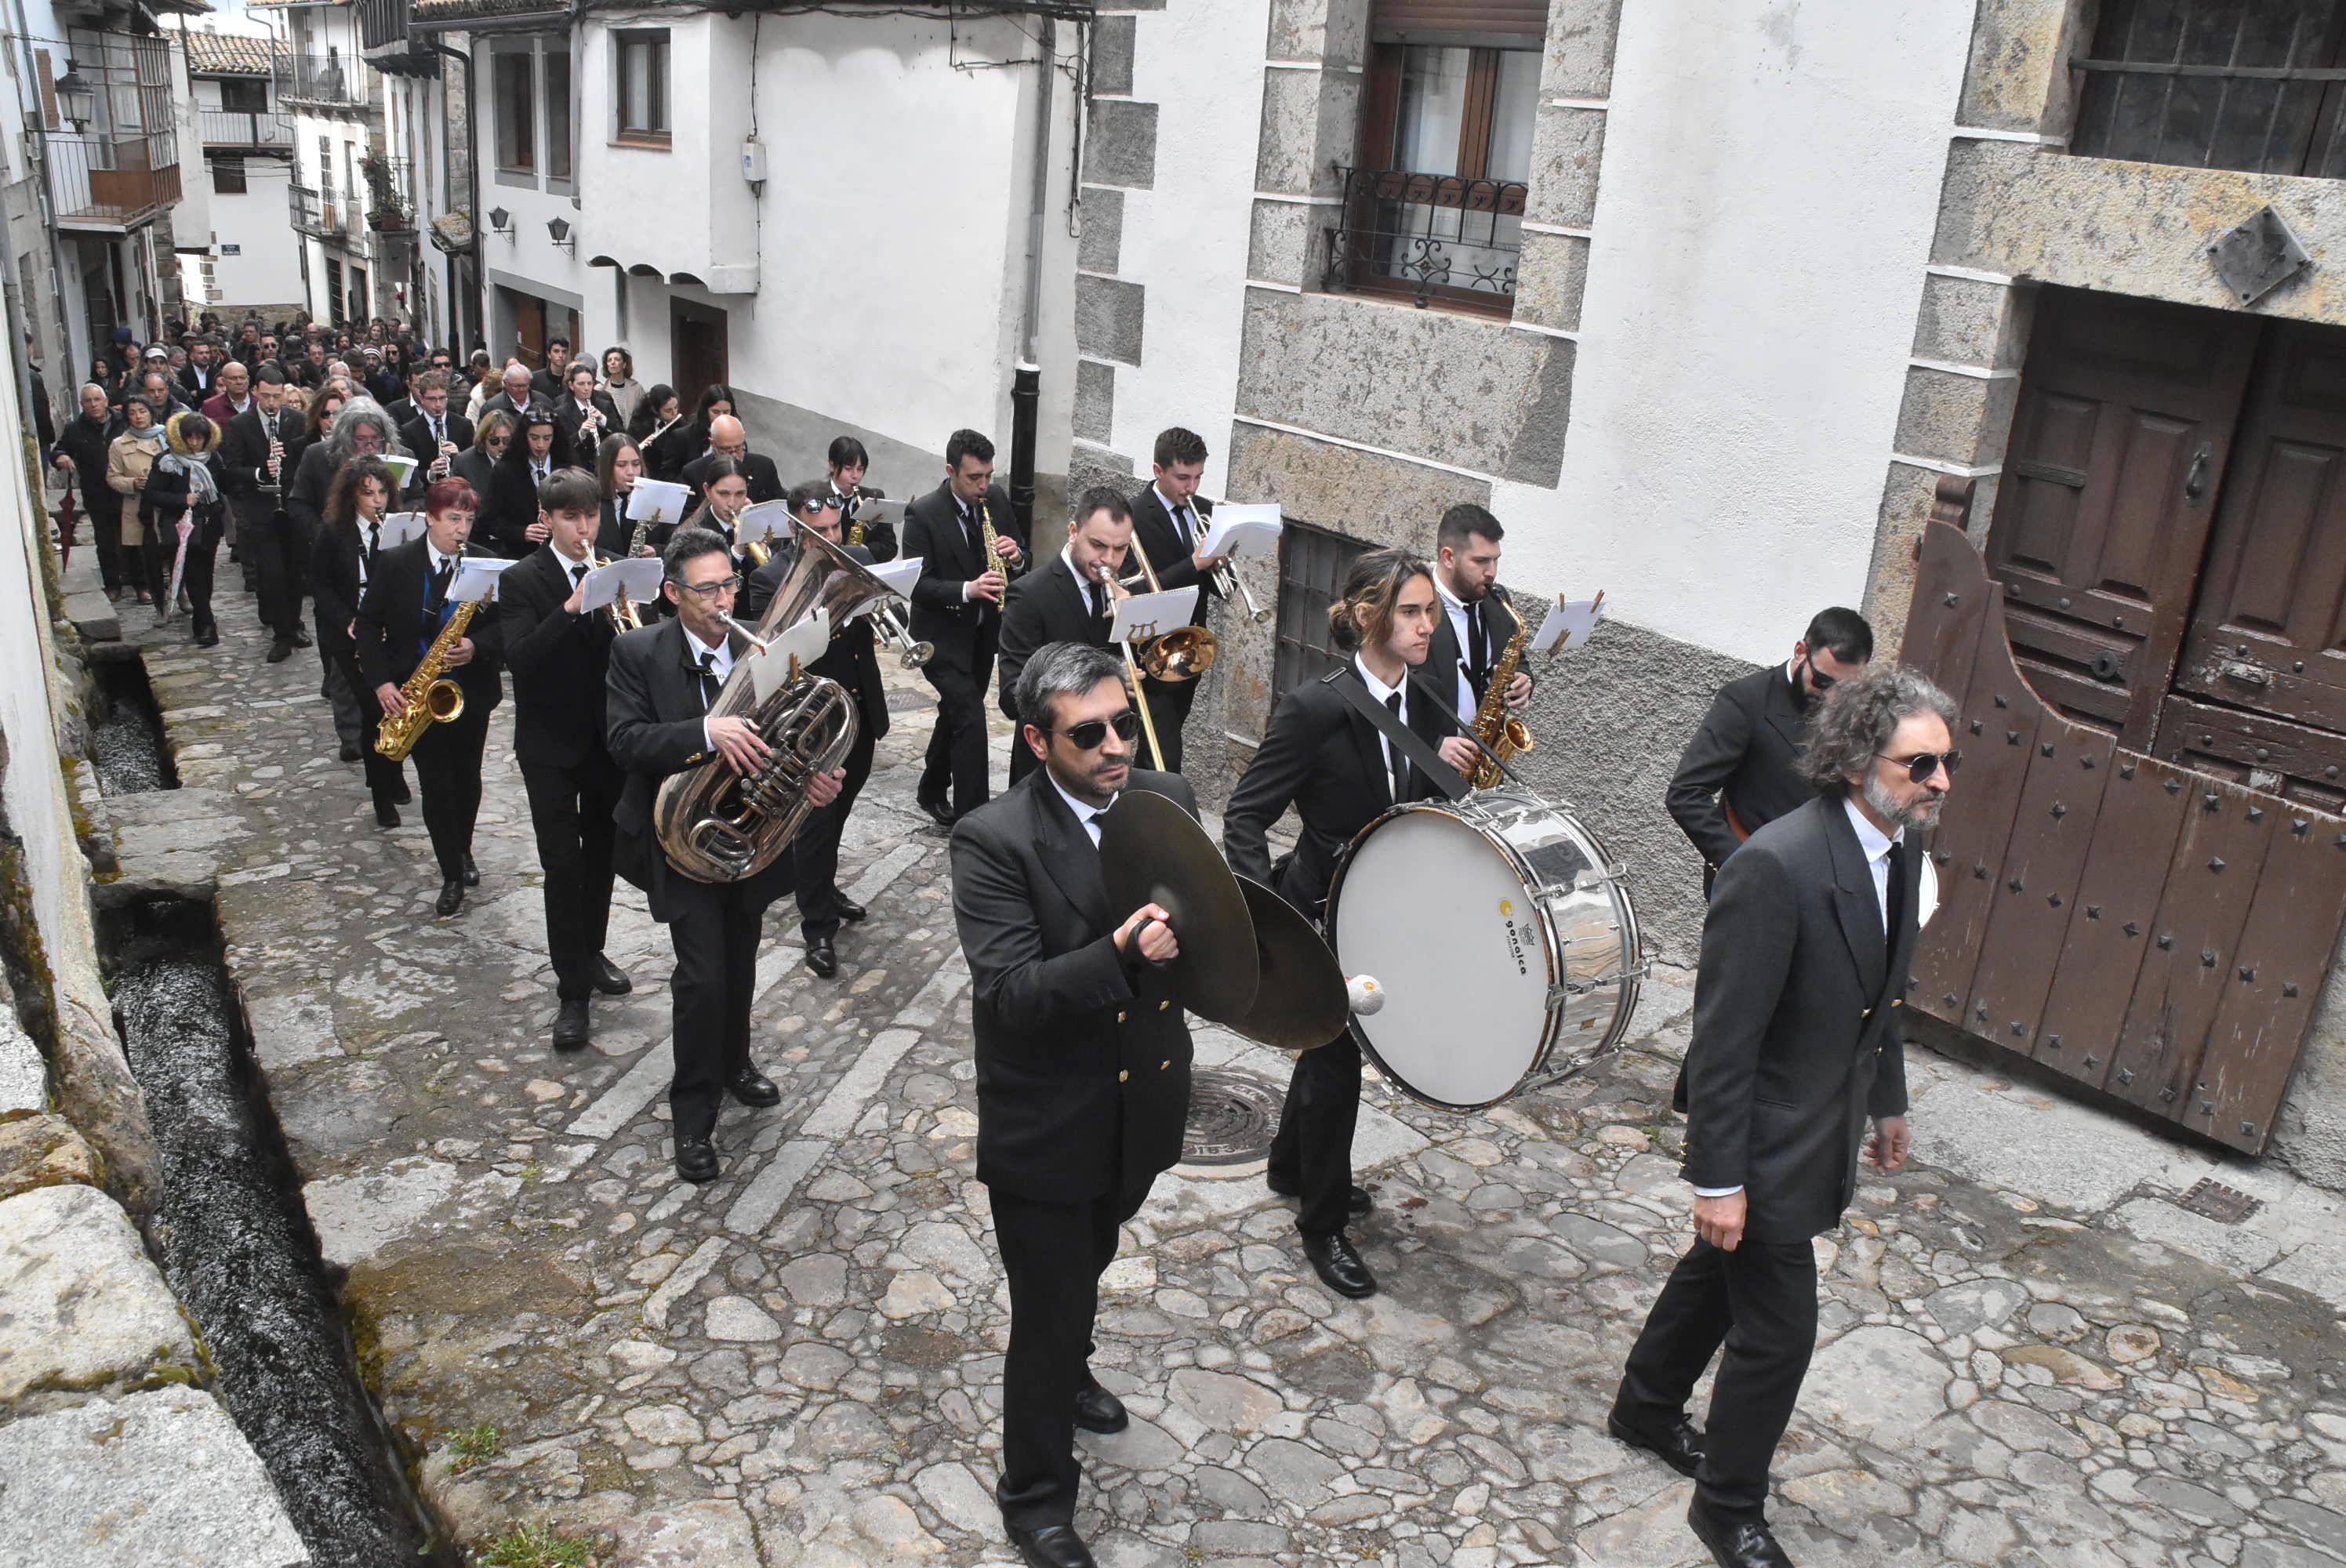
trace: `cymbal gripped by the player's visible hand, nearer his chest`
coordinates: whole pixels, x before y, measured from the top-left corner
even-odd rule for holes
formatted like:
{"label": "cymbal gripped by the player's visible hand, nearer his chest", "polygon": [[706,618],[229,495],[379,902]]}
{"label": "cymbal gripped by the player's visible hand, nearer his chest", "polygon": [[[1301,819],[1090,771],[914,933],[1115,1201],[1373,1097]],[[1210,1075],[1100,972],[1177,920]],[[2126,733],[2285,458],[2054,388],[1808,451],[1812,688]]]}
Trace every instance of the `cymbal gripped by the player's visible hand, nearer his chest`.
{"label": "cymbal gripped by the player's visible hand, nearer his chest", "polygon": [[1164,904],[1173,915],[1180,953],[1166,965],[1166,981],[1182,1007],[1227,1023],[1255,1005],[1255,920],[1222,852],[1189,812],[1147,789],[1117,796],[1100,817],[1100,880],[1114,920],[1143,904]]}

